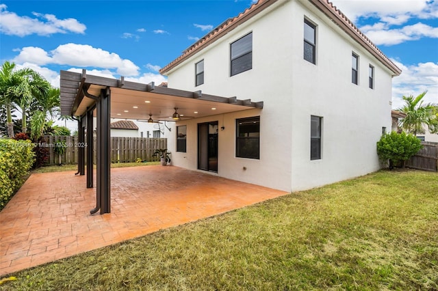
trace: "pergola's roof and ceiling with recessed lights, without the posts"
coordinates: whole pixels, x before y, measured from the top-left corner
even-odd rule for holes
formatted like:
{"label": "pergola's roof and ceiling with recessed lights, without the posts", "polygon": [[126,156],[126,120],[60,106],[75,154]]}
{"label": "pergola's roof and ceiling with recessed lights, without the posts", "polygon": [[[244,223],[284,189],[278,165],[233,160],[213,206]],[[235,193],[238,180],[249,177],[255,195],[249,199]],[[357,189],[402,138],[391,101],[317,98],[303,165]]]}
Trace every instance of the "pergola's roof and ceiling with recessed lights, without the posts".
{"label": "pergola's roof and ceiling with recessed lights, without the posts", "polygon": [[[153,120],[172,120],[175,108],[182,119],[205,117],[263,108],[263,102],[237,100],[236,97],[221,97],[203,94],[201,91],[188,92],[168,87],[155,86],[153,83],[142,84],[121,79],[89,76],[83,70],[82,74],[61,71],[61,112],[62,115],[81,116],[87,108],[92,107],[94,99],[86,94],[99,96],[101,89],[110,87],[111,113],[110,117],[131,120],[148,120],[149,114]],[[84,92],[86,92],[84,94]],[[89,96],[89,95],[88,95]]]}

